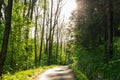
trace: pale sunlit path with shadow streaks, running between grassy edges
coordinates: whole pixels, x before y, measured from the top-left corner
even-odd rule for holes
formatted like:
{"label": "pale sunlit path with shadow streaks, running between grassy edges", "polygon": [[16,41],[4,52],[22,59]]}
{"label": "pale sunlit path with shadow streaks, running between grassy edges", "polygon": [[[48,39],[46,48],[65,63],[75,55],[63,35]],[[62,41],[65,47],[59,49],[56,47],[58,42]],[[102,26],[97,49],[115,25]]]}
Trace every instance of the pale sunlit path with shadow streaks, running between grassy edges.
{"label": "pale sunlit path with shadow streaks, running between grassy edges", "polygon": [[68,66],[57,66],[37,75],[34,80],[76,80]]}

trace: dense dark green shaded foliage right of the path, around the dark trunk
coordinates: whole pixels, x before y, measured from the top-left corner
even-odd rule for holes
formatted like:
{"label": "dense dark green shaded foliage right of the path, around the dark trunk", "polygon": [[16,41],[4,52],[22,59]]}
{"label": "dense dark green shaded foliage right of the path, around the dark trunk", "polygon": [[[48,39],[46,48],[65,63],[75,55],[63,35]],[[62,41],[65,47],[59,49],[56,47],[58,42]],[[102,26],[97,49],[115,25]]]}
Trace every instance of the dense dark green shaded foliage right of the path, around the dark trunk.
{"label": "dense dark green shaded foliage right of the path, around the dark trunk", "polygon": [[[78,0],[79,1],[79,0]],[[108,47],[108,0],[83,0],[81,7],[83,12],[77,14],[74,25],[74,43],[68,42],[68,52],[73,55],[73,64],[82,71],[89,80],[119,80],[119,58],[120,58],[120,39],[119,25],[120,15],[118,14],[120,1],[116,1],[114,6],[114,40],[113,55],[107,63],[105,57]],[[85,15],[85,16],[84,16]],[[74,46],[74,47],[72,47]],[[72,48],[71,48],[72,47]]]}

